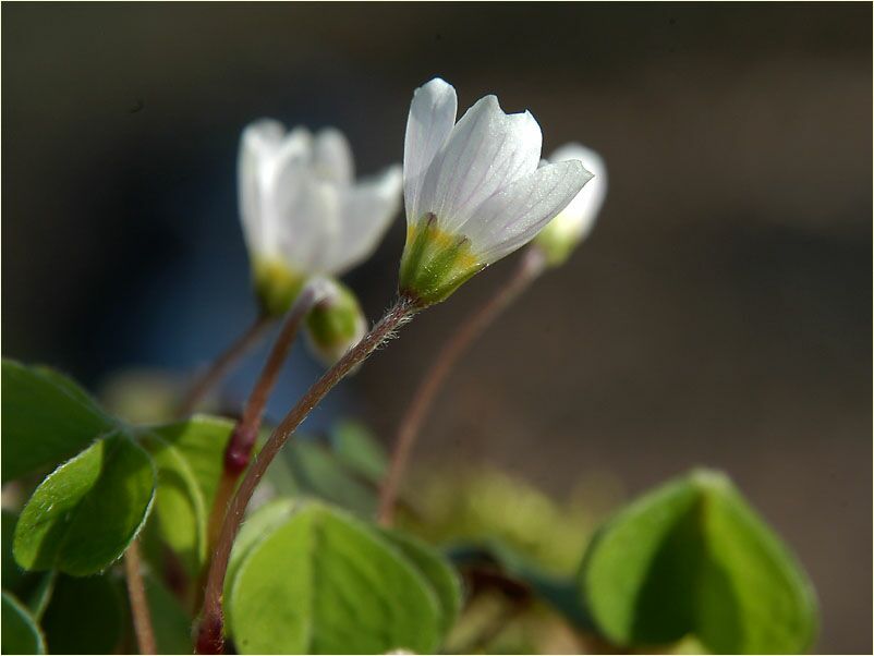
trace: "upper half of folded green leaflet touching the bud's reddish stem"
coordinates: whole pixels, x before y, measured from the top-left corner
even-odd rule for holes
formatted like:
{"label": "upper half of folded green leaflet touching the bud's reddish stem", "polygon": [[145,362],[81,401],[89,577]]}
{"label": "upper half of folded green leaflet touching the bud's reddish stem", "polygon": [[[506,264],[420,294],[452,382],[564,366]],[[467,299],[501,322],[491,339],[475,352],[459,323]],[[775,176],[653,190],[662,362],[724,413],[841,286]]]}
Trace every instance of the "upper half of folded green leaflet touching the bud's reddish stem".
{"label": "upper half of folded green leaflet touching the bud's reddish stem", "polygon": [[201,487],[205,507],[210,509],[223,469],[224,446],[233,426],[234,423],[229,420],[195,415],[145,430],[154,433],[179,451]]}

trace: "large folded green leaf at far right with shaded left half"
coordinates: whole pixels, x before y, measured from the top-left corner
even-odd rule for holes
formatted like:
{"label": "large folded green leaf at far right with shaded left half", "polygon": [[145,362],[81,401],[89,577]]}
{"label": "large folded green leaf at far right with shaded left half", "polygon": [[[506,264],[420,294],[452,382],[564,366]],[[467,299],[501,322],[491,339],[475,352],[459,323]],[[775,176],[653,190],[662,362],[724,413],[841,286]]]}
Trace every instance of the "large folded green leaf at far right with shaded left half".
{"label": "large folded green leaf at far right with shaded left half", "polygon": [[803,570],[724,475],[696,471],[620,511],[580,573],[594,621],[623,646],[695,635],[713,653],[801,653],[816,634]]}

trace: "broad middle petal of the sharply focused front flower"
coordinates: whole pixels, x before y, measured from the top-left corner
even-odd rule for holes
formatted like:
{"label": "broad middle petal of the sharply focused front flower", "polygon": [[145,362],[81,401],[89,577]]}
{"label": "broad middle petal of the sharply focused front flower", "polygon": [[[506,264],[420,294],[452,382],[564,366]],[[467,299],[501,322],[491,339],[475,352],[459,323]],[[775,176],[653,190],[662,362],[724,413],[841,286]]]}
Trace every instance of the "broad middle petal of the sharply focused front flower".
{"label": "broad middle petal of the sharply focused front flower", "polygon": [[448,232],[463,230],[498,190],[537,168],[541,126],[530,112],[506,114],[495,96],[478,100],[458,122],[425,178],[421,207]]}

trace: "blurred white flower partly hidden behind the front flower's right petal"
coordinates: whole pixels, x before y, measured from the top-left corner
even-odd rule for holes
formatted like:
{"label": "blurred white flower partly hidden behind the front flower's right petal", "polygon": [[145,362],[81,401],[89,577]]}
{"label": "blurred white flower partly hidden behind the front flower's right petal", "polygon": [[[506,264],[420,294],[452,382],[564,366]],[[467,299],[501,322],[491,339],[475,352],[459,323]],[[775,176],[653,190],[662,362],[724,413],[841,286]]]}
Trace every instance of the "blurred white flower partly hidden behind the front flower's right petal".
{"label": "blurred white flower partly hidden behind the front flower's right petal", "polygon": [[594,178],[558,216],[547,223],[534,243],[542,247],[550,265],[563,263],[595,224],[607,195],[607,167],[602,157],[580,144],[566,144],[549,157],[549,162],[579,159]]}

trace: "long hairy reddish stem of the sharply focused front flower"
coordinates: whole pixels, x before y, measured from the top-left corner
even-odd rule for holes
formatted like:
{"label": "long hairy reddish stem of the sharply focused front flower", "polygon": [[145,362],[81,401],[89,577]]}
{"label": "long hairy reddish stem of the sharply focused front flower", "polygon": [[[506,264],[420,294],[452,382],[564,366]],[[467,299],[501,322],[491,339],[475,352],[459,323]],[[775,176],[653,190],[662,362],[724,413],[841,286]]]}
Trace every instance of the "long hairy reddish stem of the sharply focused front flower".
{"label": "long hairy reddish stem of the sharply focused front flower", "polygon": [[371,353],[394,333],[396,329],[409,321],[416,311],[417,307],[411,301],[406,299],[399,300],[357,344],[350,349],[337,364],[313,384],[279,426],[276,427],[264,448],[255,455],[252,466],[246,471],[236,494],[231,500],[216,543],[216,550],[207,575],[201,628],[197,635],[196,649],[198,654],[220,654],[223,651],[221,594],[224,587],[224,575],[228,570],[231,547],[240,530],[246,506],[248,506],[255,487],[257,487],[267,467],[298,426],[301,425],[313,408],[325,398],[333,386],[342,380],[355,365],[364,362]]}

